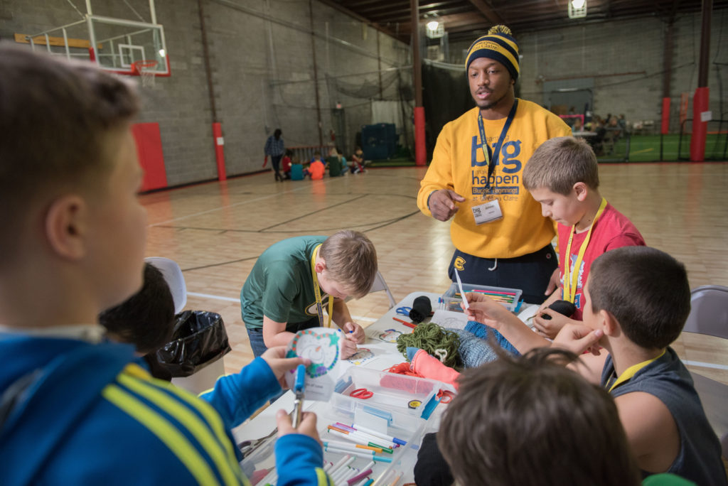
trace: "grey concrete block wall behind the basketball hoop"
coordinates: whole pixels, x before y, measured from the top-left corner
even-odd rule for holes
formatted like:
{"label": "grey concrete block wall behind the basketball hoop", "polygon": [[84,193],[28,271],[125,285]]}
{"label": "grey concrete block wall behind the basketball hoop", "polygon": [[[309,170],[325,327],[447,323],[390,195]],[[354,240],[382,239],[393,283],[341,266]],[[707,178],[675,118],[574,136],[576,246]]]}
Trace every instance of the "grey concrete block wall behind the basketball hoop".
{"label": "grey concrete block wall behind the basketball hoop", "polygon": [[[96,15],[140,20],[127,3],[149,21],[147,0],[92,0],[92,7]],[[157,78],[154,87],[141,90],[144,108],[139,121],[159,123],[170,186],[216,178],[213,113],[197,0],[156,4],[172,76]],[[83,2],[76,5],[85,12]],[[312,42],[324,143],[331,140],[331,108],[337,101],[346,113],[346,133],[341,136],[347,137],[349,148],[358,127],[372,122],[368,100],[339,92],[333,76],[376,71],[377,35],[381,68],[407,63],[406,44],[317,1],[312,8],[314,40],[307,1],[202,0],[202,11],[228,175],[260,170],[265,140],[275,128],[282,129],[288,146],[319,143]],[[80,18],[63,1],[49,6],[47,0],[0,0],[0,39],[12,41],[16,32],[37,33]],[[367,83],[378,83],[376,73],[364,77]],[[404,78],[411,84],[410,73]],[[356,76],[341,80],[347,83],[344,87],[362,81]],[[394,83],[384,97],[396,94]]]}

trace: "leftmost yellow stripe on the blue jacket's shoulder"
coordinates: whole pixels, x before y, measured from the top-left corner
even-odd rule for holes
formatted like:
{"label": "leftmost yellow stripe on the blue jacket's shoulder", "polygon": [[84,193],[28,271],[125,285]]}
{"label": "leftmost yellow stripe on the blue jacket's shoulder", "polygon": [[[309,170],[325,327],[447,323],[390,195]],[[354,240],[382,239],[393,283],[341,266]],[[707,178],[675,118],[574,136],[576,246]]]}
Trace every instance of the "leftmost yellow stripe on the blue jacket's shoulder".
{"label": "leftmost yellow stripe on the blue jacket's shoulder", "polygon": [[145,426],[152,434],[157,436],[172,453],[177,456],[195,481],[200,485],[217,485],[210,466],[199,455],[199,452],[190,444],[189,440],[181,434],[162,415],[152,410],[148,405],[133,397],[132,394],[122,390],[114,384],[107,385],[101,394],[112,404],[119,407],[136,421]]}

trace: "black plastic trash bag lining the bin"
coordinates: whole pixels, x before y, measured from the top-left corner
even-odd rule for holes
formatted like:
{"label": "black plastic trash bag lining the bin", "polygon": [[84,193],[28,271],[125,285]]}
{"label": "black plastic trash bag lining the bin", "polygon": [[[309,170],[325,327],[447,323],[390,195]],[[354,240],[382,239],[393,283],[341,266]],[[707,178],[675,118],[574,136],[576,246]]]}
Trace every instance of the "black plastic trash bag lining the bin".
{"label": "black plastic trash bag lining the bin", "polygon": [[220,314],[183,311],[169,343],[157,350],[157,360],[173,378],[189,376],[230,351]]}

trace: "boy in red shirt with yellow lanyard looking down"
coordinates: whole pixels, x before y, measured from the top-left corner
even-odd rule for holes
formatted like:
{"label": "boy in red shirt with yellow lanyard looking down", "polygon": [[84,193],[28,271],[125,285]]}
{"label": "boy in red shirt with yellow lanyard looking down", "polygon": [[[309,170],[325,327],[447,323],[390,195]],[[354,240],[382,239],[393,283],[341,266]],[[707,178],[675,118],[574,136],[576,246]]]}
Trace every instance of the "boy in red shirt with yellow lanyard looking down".
{"label": "boy in red shirt with yellow lanyard looking down", "polygon": [[[574,137],[546,140],[523,170],[523,186],[541,204],[542,214],[557,224],[558,268],[546,291],[550,296],[534,317],[534,327],[547,338],[581,320],[583,287],[595,258],[614,248],[645,244],[632,222],[599,194],[598,171],[592,148]],[[574,303],[571,319],[549,308],[556,300]]]}

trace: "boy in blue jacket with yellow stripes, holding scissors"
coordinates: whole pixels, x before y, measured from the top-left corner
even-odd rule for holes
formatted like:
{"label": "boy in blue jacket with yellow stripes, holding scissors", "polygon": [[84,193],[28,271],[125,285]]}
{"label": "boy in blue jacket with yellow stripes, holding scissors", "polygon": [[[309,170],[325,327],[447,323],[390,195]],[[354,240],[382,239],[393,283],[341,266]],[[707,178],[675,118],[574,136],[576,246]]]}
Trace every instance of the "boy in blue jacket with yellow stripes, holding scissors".
{"label": "boy in blue jacket with yellow stripes, holding scissors", "polygon": [[[0,72],[0,483],[249,484],[213,408],[98,324],[141,287],[132,84],[2,42]],[[278,425],[282,474],[317,484],[315,416]]]}

